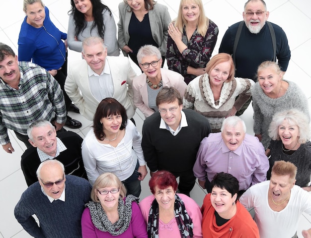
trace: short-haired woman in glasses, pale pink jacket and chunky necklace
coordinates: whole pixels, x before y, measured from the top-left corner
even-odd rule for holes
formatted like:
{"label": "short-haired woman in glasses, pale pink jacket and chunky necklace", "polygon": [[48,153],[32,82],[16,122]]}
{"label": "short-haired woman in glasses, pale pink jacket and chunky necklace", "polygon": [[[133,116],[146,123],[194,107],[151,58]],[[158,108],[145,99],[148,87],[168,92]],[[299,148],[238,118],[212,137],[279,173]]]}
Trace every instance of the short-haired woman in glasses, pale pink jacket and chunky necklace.
{"label": "short-haired woman in glasses, pale pink jacket and chunky necklace", "polygon": [[184,95],[187,84],[181,74],[161,68],[161,53],[155,46],[141,47],[137,60],[144,73],[133,80],[134,104],[147,118],[157,111],[156,95],[162,87],[174,87]]}

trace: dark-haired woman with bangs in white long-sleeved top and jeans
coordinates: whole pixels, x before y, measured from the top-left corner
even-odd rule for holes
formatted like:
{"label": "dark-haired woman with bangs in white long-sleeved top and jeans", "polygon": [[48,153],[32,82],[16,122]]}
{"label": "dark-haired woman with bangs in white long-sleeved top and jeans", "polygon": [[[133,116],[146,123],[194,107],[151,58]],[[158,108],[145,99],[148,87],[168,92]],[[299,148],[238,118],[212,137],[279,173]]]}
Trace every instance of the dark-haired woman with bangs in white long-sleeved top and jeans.
{"label": "dark-haired woman with bangs in white long-sleeved top and jeans", "polygon": [[95,112],[93,128],[82,143],[82,158],[88,180],[94,184],[103,173],[115,174],[128,194],[139,197],[141,180],[147,175],[142,137],[127,118],[125,108],[113,98],[103,99]]}

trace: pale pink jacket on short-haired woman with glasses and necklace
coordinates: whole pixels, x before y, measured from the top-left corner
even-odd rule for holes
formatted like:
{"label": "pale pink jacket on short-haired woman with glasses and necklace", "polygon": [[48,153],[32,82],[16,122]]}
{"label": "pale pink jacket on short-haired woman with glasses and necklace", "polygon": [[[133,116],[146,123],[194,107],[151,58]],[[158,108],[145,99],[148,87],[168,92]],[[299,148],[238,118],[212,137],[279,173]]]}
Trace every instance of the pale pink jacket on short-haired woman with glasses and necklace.
{"label": "pale pink jacket on short-haired woman with glasses and necklace", "polygon": [[[184,77],[181,74],[168,70],[166,68],[160,68],[161,77],[163,82],[163,87],[174,87],[176,88],[181,98],[183,98],[187,84],[184,82]],[[147,91],[147,75],[142,73],[141,75],[135,77],[132,83],[134,91],[134,105],[139,108],[139,110],[149,117],[154,114],[154,110],[148,107],[148,91]]]}

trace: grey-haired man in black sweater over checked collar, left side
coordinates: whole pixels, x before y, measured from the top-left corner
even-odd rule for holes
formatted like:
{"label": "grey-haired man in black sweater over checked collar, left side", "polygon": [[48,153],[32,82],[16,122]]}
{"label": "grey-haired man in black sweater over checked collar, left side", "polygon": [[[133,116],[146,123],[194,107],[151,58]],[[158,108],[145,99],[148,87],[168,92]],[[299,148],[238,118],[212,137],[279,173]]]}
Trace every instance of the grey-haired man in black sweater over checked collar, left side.
{"label": "grey-haired man in black sweater over checked collar, left side", "polygon": [[75,132],[59,132],[47,120],[36,120],[28,130],[29,147],[21,156],[21,169],[28,186],[38,181],[39,165],[49,159],[57,159],[65,166],[66,175],[87,179],[84,169],[81,144],[83,139]]}

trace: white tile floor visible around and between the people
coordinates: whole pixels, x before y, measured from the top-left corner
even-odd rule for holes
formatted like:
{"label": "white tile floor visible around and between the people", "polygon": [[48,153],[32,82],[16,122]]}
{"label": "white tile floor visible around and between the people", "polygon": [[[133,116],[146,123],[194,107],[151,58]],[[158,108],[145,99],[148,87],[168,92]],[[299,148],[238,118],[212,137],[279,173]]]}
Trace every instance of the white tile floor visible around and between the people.
{"label": "white tile floor visible around and between the people", "polygon": [[[70,10],[70,0],[43,0],[50,9],[50,17],[54,24],[66,32],[68,27],[68,11]],[[211,18],[219,27],[219,37],[214,54],[218,53],[218,48],[222,37],[228,26],[242,20],[243,5],[246,0],[203,0],[207,16]],[[8,44],[17,53],[17,40],[21,22],[25,16],[22,10],[22,0],[2,0],[0,7],[0,42]],[[103,0],[113,12],[116,23],[118,22],[118,4],[121,0]],[[168,7],[168,11],[173,18],[178,11],[179,0],[158,0],[159,3]],[[289,45],[292,51],[285,78],[300,85],[307,97],[311,98],[311,72],[308,67],[311,65],[311,1],[310,0],[266,0],[270,11],[269,20],[280,25],[287,34]],[[296,22],[296,23],[295,23]],[[256,47],[256,46],[254,46]],[[69,52],[69,60],[80,59],[80,54]],[[139,68],[134,65],[137,73]],[[84,135],[89,130],[91,121],[82,116],[70,113],[75,119],[82,122],[80,129],[74,130],[79,135]],[[139,130],[142,129],[143,116],[138,111],[135,120]],[[252,131],[252,109],[249,108],[242,119],[245,120],[248,133]],[[15,149],[13,154],[7,154],[0,148],[0,238],[28,238],[30,237],[14,218],[13,209],[21,193],[27,188],[25,179],[20,169],[20,156],[25,150],[22,142],[15,138],[10,131],[10,139]],[[141,198],[150,194],[148,179],[143,181],[143,192]],[[191,192],[191,197],[202,205],[205,193],[196,185]],[[308,220],[309,219],[309,220]],[[302,217],[298,235],[301,230],[311,227],[311,218],[306,215]]]}

